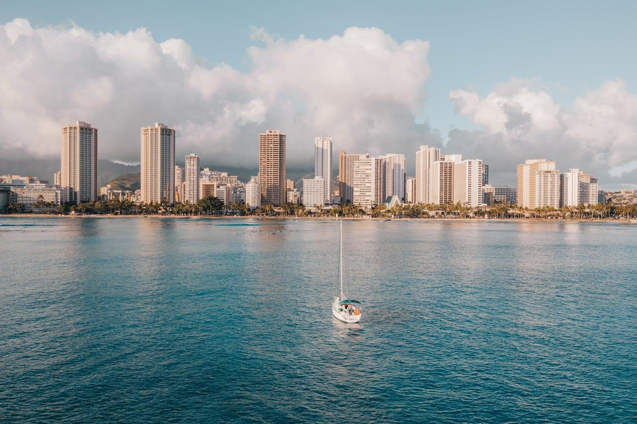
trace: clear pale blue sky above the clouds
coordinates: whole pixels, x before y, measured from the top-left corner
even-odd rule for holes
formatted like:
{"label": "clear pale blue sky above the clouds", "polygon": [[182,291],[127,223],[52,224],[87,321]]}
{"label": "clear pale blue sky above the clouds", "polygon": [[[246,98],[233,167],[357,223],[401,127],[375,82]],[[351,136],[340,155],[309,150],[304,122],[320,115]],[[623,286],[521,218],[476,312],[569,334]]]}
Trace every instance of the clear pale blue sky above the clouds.
{"label": "clear pale blue sky above the clouds", "polygon": [[[390,4],[391,3],[391,4]],[[451,90],[490,92],[512,76],[541,78],[556,102],[588,88],[637,78],[635,1],[7,1],[0,22],[75,22],[92,31],[146,27],[157,41],[182,38],[211,63],[246,69],[250,27],[294,39],[329,38],[351,26],[378,27],[396,41],[431,43],[426,119],[443,134],[473,127],[456,115]]]}

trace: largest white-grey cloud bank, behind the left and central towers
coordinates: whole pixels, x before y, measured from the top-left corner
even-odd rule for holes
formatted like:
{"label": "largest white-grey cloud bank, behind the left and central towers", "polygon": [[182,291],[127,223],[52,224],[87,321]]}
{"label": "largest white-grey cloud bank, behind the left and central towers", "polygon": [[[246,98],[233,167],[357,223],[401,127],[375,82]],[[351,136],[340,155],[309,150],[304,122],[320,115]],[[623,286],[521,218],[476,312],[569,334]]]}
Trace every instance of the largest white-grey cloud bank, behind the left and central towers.
{"label": "largest white-grey cloud bank, behind the left and central towers", "polygon": [[415,123],[426,41],[358,27],[327,39],[252,35],[241,72],[143,28],[0,25],[0,155],[57,157],[60,127],[76,120],[99,128],[101,159],[124,162],[140,160],[140,127],[154,122],[176,128],[178,155],[228,166],[256,167],[265,129],[287,133],[290,166],[311,163],[315,136],[373,154],[440,144],[438,132]]}

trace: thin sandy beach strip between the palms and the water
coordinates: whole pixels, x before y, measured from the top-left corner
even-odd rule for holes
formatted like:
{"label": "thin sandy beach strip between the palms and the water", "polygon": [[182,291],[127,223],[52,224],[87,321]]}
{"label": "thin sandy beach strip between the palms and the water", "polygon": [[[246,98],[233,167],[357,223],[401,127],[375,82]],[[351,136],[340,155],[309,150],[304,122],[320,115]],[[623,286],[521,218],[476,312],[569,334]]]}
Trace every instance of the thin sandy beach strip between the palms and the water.
{"label": "thin sandy beach strip between the palms and the water", "polygon": [[[48,215],[41,213],[8,213],[0,214],[0,218],[174,218],[174,219],[268,219],[268,220],[359,220],[385,221],[387,218],[353,217],[353,216],[209,216],[209,215]],[[445,222],[618,222],[637,224],[635,218],[619,219],[580,219],[580,218],[391,218],[391,221],[445,221]]]}

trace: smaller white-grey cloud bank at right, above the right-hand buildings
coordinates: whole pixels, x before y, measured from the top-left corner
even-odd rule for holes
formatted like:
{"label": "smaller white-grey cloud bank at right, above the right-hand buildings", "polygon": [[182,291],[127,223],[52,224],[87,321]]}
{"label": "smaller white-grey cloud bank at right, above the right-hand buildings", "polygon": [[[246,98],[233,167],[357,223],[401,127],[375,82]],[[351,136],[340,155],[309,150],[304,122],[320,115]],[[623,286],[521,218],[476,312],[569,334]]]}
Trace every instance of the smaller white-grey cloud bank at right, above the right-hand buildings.
{"label": "smaller white-grey cloud bank at right, above the right-hand buildings", "polygon": [[534,157],[557,160],[564,171],[577,167],[594,173],[607,185],[636,182],[625,180],[629,172],[609,173],[633,169],[637,160],[637,95],[622,80],[589,90],[571,108],[556,104],[538,80],[515,78],[485,97],[461,89],[449,99],[457,113],[482,129],[451,131],[447,150],[485,160],[506,180],[501,182],[513,183],[515,165]]}

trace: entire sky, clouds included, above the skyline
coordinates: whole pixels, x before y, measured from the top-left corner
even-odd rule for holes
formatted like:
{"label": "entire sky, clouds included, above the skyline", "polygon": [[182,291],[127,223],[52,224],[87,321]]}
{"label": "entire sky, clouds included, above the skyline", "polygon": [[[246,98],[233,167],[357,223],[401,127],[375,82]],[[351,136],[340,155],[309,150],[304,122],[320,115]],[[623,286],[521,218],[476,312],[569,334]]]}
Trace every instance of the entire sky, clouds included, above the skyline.
{"label": "entire sky, clouds included, above the skyline", "polygon": [[[0,0],[0,157],[57,157],[59,127],[100,129],[101,159],[139,162],[163,122],[177,153],[289,166],[420,145],[490,165],[546,157],[603,188],[637,186],[635,2],[50,2]],[[30,130],[24,131],[25,125]]]}

